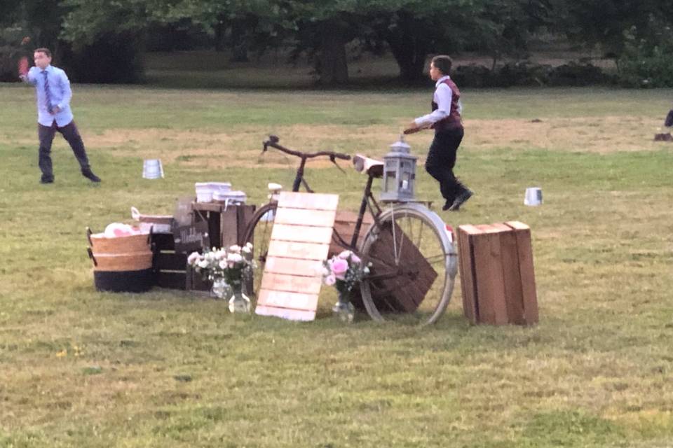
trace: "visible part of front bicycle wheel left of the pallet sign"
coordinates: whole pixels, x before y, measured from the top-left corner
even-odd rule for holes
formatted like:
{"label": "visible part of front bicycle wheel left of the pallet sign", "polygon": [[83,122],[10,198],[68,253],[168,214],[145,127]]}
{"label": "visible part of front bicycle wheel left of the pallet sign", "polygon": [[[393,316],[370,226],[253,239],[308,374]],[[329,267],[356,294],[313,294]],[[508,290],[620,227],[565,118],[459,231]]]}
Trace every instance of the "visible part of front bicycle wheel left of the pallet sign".
{"label": "visible part of front bicycle wheel left of the pallet sign", "polygon": [[276,209],[278,204],[269,202],[264,204],[254,212],[250,223],[245,228],[243,241],[241,244],[252,243],[252,255],[256,267],[252,270],[252,279],[247,281],[247,294],[257,298],[257,292],[261,284],[261,274],[264,272],[266,264],[266,255],[268,254],[268,244],[271,241],[271,230],[273,229],[273,220],[276,218]]}

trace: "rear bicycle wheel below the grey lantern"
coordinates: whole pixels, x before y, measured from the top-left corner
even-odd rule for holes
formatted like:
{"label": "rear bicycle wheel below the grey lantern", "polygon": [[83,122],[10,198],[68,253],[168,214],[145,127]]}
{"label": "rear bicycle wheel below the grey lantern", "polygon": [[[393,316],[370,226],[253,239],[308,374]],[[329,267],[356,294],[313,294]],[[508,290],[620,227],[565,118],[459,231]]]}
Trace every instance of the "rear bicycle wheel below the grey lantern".
{"label": "rear bicycle wheel below the grey lantern", "polygon": [[426,325],[442,316],[458,260],[437,214],[421,204],[394,205],[369,228],[361,252],[372,264],[360,290],[374,320]]}

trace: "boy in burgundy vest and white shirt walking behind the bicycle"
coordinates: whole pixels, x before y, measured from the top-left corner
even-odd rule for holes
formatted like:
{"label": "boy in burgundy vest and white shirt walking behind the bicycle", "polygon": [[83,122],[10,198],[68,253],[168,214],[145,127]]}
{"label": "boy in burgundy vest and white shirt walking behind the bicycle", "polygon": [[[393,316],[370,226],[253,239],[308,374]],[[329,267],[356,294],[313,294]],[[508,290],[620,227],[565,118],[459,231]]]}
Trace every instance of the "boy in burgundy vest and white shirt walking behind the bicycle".
{"label": "boy in burgundy vest and white shirt walking behind the bicycle", "polygon": [[426,159],[426,171],[440,183],[440,192],[446,200],[442,210],[458,211],[473,192],[454,176],[456,152],[463,140],[463,123],[461,92],[449,78],[452,64],[448,56],[433,57],[430,62],[430,78],[436,82],[433,111],[416,118],[411,127],[435,130],[435,139]]}

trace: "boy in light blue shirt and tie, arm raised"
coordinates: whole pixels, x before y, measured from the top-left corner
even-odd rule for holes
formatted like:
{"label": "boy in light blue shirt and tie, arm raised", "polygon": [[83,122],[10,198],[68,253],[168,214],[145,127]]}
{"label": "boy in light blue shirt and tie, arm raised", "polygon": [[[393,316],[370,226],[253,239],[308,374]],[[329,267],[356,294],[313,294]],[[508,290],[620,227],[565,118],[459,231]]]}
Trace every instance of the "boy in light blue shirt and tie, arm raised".
{"label": "boy in light blue shirt and tie, arm raised", "polygon": [[20,78],[35,86],[41,183],[53,183],[54,181],[51,144],[56,131],[62,134],[72,148],[81,167],[82,175],[92,182],[100,182],[100,178],[91,171],[82,137],[79,135],[72,111],[70,111],[72,90],[70,90],[68,76],[63,70],[51,65],[51,52],[47,48],[35,50],[34,60],[35,66],[28,73],[22,73]]}

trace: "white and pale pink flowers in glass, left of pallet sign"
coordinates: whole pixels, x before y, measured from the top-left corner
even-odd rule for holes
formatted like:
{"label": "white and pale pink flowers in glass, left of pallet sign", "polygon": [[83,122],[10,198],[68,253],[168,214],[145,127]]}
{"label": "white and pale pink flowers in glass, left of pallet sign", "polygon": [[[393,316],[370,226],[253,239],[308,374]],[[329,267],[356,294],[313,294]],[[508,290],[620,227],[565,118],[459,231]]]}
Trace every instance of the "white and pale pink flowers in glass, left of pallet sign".
{"label": "white and pale pink flowers in glass, left of pallet sign", "polygon": [[212,293],[221,299],[231,295],[229,311],[249,313],[250,298],[243,292],[243,284],[250,279],[254,260],[252,244],[212,248],[203,254],[193,252],[187,257],[187,264],[204,279],[212,281]]}

